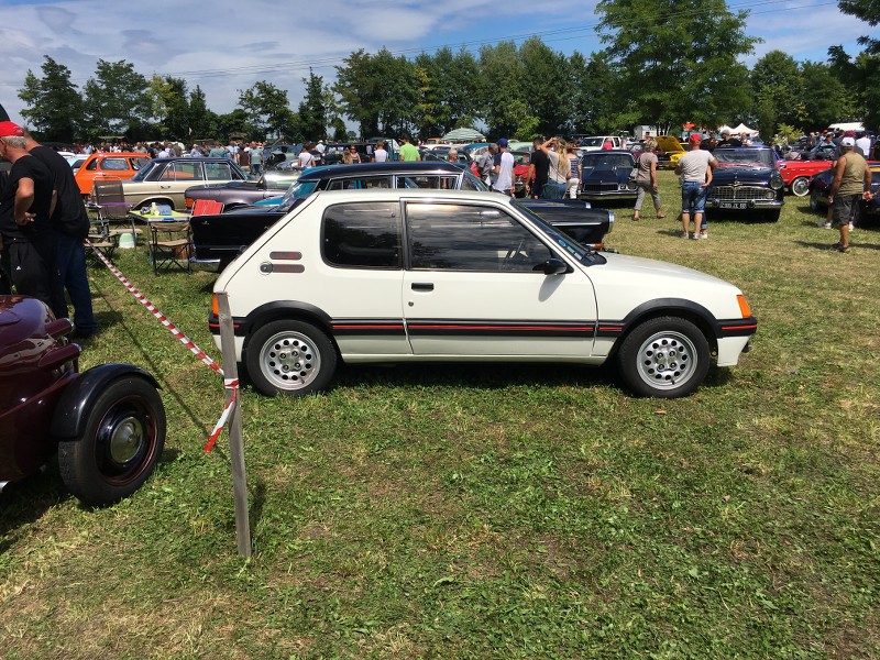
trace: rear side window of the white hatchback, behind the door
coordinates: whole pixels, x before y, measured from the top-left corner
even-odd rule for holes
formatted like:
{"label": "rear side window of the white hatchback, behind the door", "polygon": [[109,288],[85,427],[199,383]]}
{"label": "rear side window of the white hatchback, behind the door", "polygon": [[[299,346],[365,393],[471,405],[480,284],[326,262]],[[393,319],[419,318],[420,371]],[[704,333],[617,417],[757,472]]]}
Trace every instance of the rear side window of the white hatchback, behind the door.
{"label": "rear side window of the white hatchback, behind the door", "polygon": [[394,202],[329,207],[321,224],[324,261],[345,268],[400,268],[399,216]]}

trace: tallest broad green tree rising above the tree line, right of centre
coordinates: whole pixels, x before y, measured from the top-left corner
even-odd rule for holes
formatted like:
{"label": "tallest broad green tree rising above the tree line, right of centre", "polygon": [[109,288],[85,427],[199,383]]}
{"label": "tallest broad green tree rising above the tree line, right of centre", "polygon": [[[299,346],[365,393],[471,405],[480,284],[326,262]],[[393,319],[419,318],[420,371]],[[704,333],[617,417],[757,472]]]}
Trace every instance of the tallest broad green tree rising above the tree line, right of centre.
{"label": "tallest broad green tree rising above the tree line, right of centre", "polygon": [[619,70],[617,98],[629,99],[639,123],[717,125],[749,108],[738,58],[759,40],[745,34],[747,12],[725,0],[600,0],[596,11]]}

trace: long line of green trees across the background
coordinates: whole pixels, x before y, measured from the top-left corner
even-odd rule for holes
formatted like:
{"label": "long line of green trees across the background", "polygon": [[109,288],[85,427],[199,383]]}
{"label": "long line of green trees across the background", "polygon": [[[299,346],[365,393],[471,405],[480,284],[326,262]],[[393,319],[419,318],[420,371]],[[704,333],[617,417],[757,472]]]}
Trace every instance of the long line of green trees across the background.
{"label": "long line of green trees across the background", "polygon": [[[840,8],[876,25],[875,0]],[[749,69],[739,59],[759,40],[746,34],[747,12],[725,0],[601,0],[604,48],[556,52],[539,37],[503,41],[477,53],[440,48],[415,58],[363,50],[337,66],[336,81],[309,72],[296,109],[268,80],[239,90],[228,113],[211,111],[204,90],[174,76],[147,78],[131,63],[99,59],[81,89],[70,70],[45,56],[29,70],[22,116],[45,141],[102,136],[182,141],[230,135],[290,141],[360,136],[440,136],[484,125],[488,135],[528,140],[560,133],[607,134],[634,125],[668,132],[683,122],[715,127],[740,121],[762,135],[821,130],[835,121],[880,124],[880,42],[828,50],[826,62],[798,62],[771,51]]]}

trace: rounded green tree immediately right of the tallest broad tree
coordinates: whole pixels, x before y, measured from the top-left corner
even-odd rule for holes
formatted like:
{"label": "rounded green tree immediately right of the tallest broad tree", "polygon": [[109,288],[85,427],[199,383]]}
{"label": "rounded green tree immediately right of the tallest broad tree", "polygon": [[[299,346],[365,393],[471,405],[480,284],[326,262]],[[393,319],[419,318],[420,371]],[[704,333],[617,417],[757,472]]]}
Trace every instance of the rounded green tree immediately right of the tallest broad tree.
{"label": "rounded green tree immediately right of the tallest broad tree", "polygon": [[779,124],[801,125],[806,117],[801,69],[793,57],[770,51],[751,69],[755,117],[761,135],[773,135]]}

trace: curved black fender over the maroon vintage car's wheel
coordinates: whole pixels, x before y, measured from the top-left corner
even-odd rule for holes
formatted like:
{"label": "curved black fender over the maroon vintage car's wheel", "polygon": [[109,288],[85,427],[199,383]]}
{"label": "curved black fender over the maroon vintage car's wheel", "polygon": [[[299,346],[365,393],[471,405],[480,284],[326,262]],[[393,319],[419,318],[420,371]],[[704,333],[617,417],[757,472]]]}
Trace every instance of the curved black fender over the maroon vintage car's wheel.
{"label": "curved black fender over the maroon vintage car's wheel", "polygon": [[50,435],[56,440],[78,437],[82,432],[82,425],[95,399],[110,382],[123,376],[144,378],[153,387],[160,388],[158,382],[151,373],[133,364],[110,363],[92,366],[65,389],[55,407]]}

